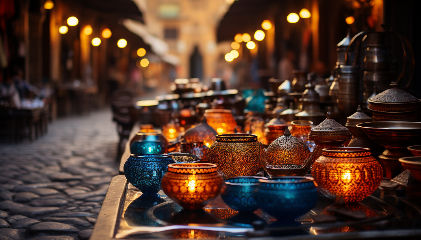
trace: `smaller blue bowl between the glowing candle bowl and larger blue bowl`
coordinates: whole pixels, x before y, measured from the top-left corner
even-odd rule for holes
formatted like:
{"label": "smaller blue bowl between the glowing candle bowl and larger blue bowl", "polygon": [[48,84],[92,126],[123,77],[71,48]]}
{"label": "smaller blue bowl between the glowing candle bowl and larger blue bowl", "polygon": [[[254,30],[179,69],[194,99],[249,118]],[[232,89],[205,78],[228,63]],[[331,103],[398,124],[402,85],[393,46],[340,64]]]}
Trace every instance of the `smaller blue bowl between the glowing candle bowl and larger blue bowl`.
{"label": "smaller blue bowl between the glowing candle bowl and larger blue bowl", "polygon": [[266,177],[232,177],[225,179],[221,198],[230,208],[240,212],[251,212],[258,208],[255,190],[259,179]]}

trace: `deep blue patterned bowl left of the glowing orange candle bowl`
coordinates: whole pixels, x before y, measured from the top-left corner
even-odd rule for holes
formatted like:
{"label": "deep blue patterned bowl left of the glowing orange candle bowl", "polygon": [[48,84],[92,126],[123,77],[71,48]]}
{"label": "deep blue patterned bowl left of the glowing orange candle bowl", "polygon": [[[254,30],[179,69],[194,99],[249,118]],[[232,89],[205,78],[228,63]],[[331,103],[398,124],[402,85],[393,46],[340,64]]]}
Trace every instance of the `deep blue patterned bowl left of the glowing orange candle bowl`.
{"label": "deep blue patterned bowl left of the glowing orange candle bowl", "polygon": [[157,193],[168,164],[175,161],[168,154],[132,154],[124,164],[124,175],[143,194]]}

